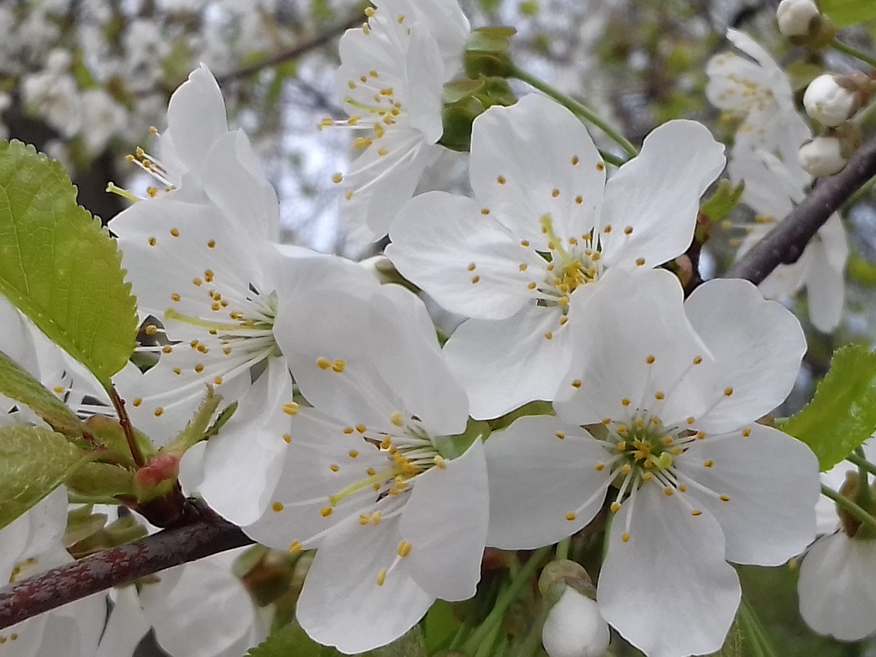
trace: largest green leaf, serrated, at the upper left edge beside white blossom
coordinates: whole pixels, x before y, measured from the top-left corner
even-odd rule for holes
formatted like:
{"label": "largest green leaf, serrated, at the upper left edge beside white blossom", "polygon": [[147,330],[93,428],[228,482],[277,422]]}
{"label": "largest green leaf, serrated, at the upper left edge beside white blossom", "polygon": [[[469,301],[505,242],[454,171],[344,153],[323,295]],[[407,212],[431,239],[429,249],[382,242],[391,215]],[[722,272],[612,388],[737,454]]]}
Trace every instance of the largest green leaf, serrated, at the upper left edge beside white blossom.
{"label": "largest green leaf, serrated, at the upper left edge beside white blossom", "polygon": [[109,232],[63,167],[0,142],[0,293],[109,387],[137,336],[137,303]]}

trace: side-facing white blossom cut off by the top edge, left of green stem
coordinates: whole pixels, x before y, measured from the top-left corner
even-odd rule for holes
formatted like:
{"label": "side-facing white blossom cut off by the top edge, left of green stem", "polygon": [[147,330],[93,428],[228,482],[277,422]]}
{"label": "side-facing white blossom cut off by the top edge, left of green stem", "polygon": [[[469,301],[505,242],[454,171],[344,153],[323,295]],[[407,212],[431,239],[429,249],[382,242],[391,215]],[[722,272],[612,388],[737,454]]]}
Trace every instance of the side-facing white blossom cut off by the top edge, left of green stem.
{"label": "side-facing white blossom cut off by the top edge, left of green stem", "polygon": [[[469,21],[456,0],[380,0],[341,39],[338,95],[367,129],[343,183],[341,215],[355,239],[383,237],[420,176],[442,152],[442,88],[462,69]],[[335,124],[323,120],[320,127]]]}

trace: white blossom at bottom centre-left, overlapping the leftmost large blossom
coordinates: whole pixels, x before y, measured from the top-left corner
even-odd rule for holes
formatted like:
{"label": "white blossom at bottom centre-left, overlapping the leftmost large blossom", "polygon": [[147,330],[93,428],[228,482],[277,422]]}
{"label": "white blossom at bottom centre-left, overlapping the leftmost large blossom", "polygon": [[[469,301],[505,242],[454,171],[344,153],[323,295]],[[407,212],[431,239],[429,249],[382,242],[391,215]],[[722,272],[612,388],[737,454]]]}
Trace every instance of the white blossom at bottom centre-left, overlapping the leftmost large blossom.
{"label": "white blossom at bottom centre-left, overlapping the leftmost large blossom", "polygon": [[[298,601],[314,640],[359,653],[413,626],[436,597],[474,595],[487,530],[479,438],[426,308],[383,286],[370,301],[325,293],[307,343],[285,341],[291,406],[271,510],[244,527],[272,548],[317,548]],[[287,444],[286,444],[287,443]]]}

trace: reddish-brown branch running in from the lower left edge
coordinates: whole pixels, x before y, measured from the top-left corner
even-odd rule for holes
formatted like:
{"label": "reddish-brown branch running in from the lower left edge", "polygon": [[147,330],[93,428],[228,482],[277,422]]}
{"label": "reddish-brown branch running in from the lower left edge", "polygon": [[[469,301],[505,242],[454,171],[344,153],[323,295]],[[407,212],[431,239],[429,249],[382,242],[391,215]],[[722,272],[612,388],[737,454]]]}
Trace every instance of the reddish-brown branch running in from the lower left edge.
{"label": "reddish-brown branch running in from the lower left edge", "polygon": [[0,630],[117,584],[252,543],[199,502],[187,504],[183,523],[0,589]]}

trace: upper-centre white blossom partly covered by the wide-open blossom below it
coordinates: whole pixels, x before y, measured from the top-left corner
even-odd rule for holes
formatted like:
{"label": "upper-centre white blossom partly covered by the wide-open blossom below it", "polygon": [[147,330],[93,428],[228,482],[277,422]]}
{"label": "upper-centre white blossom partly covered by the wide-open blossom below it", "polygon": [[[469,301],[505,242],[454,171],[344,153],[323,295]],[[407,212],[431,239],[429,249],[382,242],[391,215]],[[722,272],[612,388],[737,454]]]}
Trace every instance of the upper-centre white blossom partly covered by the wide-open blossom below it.
{"label": "upper-centre white blossom partly covered by the wide-open blossom below it", "polygon": [[702,125],[673,121],[606,182],[583,125],[540,95],[477,117],[471,144],[474,199],[414,198],[386,255],[471,318],[445,351],[472,416],[488,418],[553,399],[572,347],[567,323],[605,270],[649,269],[688,248],[724,149]]}

